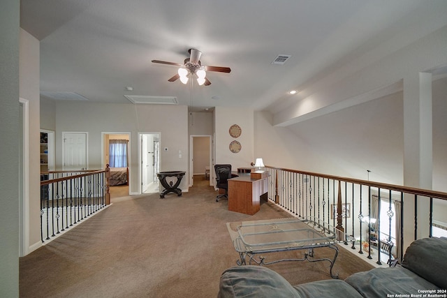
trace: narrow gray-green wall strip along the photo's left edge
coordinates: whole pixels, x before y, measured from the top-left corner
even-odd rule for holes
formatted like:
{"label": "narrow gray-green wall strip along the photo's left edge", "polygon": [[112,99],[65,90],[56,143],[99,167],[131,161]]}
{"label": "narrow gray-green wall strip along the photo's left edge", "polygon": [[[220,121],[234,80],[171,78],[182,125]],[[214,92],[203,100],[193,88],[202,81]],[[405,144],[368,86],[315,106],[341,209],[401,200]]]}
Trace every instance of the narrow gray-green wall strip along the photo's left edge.
{"label": "narrow gray-green wall strip along the photo's left edge", "polygon": [[0,297],[19,297],[19,15],[20,1],[0,9]]}

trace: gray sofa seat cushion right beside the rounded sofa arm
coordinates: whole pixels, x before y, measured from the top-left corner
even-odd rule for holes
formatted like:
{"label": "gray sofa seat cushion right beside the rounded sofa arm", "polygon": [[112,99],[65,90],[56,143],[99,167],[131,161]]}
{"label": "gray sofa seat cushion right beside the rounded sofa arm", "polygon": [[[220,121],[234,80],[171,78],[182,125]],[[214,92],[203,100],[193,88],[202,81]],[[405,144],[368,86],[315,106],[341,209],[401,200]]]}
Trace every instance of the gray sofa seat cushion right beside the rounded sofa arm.
{"label": "gray sofa seat cushion right beside the rounded sofa arm", "polygon": [[330,279],[325,281],[314,281],[312,283],[302,283],[295,285],[300,297],[344,297],[362,298],[354,288],[340,279]]}

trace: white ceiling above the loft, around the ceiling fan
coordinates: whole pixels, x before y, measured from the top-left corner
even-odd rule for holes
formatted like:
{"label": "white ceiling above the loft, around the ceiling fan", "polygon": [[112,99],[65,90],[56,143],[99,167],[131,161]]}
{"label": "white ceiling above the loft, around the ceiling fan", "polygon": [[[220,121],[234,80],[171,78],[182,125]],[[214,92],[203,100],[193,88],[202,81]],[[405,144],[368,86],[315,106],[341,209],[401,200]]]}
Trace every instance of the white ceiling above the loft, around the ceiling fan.
{"label": "white ceiling above the loft, around the ceiling fan", "polygon": [[[445,13],[446,3],[22,0],[20,23],[41,40],[41,91],[73,92],[92,102],[130,104],[124,95],[175,96],[192,110],[274,111],[294,100],[287,91],[305,89],[389,40],[395,49],[411,41],[395,36],[412,30],[412,38],[418,38],[437,29],[439,7]],[[191,89],[179,80],[168,82],[175,66],[151,63],[182,63],[189,48],[203,52],[203,65],[230,67],[231,73],[208,72],[212,84],[194,82]],[[278,54],[291,58],[283,66],[272,65]]]}

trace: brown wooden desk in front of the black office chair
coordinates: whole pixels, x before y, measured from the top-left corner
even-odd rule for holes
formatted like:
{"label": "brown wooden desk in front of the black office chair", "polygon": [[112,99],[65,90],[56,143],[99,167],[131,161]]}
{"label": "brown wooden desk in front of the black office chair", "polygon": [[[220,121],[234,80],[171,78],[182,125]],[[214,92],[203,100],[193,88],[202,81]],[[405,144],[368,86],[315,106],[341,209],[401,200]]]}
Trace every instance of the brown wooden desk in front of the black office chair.
{"label": "brown wooden desk in front of the black office chair", "polygon": [[267,197],[268,177],[251,179],[249,175],[228,179],[228,210],[253,215]]}

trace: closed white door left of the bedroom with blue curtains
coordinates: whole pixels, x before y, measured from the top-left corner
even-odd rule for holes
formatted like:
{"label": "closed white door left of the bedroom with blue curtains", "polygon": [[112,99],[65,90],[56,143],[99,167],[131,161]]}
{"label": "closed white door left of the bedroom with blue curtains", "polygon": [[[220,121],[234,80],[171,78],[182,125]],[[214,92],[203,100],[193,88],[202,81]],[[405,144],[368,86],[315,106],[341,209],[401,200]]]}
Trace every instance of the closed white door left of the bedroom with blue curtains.
{"label": "closed white door left of the bedroom with blue curtains", "polygon": [[62,133],[64,170],[87,170],[87,133]]}

